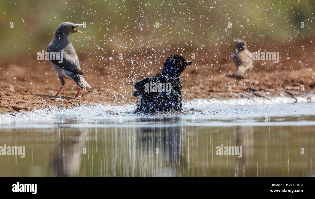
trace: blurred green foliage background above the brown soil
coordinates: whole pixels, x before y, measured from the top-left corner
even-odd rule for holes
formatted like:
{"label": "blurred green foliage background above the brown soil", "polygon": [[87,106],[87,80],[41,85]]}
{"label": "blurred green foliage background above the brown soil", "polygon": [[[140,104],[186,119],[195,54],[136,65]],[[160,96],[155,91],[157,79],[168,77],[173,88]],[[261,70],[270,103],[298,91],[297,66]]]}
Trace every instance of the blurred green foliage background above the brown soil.
{"label": "blurred green foliage background above the brown soil", "polygon": [[79,29],[84,35],[74,34],[69,40],[77,51],[93,56],[215,49],[236,38],[250,43],[309,41],[314,35],[314,13],[314,1],[304,0],[1,0],[0,56],[2,60],[36,58],[63,21],[87,23]]}

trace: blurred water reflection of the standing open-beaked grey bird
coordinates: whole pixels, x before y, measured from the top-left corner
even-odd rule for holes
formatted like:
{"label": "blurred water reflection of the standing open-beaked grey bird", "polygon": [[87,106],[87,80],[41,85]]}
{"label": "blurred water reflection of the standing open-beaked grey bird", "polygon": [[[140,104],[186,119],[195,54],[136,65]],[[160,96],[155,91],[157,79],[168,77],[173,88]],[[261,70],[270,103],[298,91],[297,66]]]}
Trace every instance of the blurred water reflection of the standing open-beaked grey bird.
{"label": "blurred water reflection of the standing open-beaked grey bird", "polygon": [[55,147],[51,156],[51,176],[77,177],[79,176],[81,156],[83,152],[83,137],[86,133],[80,131],[60,132],[60,144]]}

